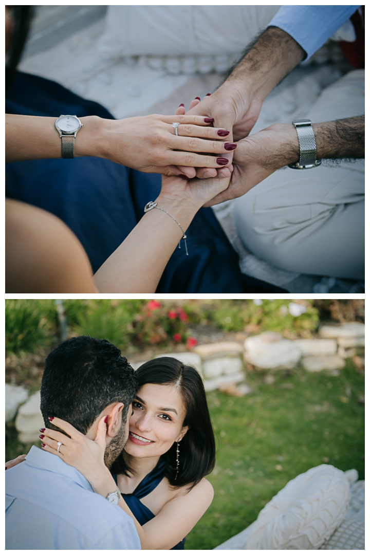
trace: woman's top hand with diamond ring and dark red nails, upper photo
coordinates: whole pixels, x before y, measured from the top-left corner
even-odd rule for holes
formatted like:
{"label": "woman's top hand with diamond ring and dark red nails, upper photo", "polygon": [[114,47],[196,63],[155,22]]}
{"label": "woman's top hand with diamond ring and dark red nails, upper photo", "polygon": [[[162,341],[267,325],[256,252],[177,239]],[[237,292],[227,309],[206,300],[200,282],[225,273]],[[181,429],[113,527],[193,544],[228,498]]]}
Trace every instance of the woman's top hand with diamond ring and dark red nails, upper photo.
{"label": "woman's top hand with diamond ring and dark red nails, upper photo", "polygon": [[[173,122],[180,123],[179,135],[175,134]],[[235,147],[227,141],[230,132],[210,127],[212,122],[212,118],[200,115],[179,114],[99,119],[92,122],[93,127],[97,125],[99,137],[99,152],[95,155],[148,173],[180,175],[181,171],[176,167],[180,165],[183,166],[182,173],[192,178],[196,174],[196,166],[222,168],[231,163],[230,152]],[[85,122],[82,131],[84,140],[90,141]],[[81,136],[78,135],[78,138],[82,142],[82,132],[79,133]],[[75,149],[77,143],[76,139]],[[82,150],[77,154],[87,155],[84,152],[89,152],[88,144],[81,144],[80,148]]]}

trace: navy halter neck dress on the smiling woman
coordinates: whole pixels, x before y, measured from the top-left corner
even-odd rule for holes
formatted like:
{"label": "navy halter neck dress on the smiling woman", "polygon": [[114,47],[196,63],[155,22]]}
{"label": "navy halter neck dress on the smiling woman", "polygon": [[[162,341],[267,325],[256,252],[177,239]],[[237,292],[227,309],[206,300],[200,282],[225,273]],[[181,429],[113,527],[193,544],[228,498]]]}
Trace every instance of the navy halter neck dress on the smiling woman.
{"label": "navy halter neck dress on the smiling woman", "polygon": [[[143,526],[143,524],[155,517],[155,514],[153,514],[143,503],[141,503],[140,499],[149,495],[149,493],[155,490],[155,488],[159,485],[164,477],[166,465],[167,463],[165,461],[161,461],[159,459],[156,467],[153,468],[153,470],[149,472],[143,480],[141,480],[133,493],[122,493],[122,497],[130,507],[140,526]],[[115,474],[113,474],[113,478],[115,483],[117,483],[117,477]],[[185,538],[176,544],[175,547],[171,547],[171,549],[184,549],[184,543]]]}

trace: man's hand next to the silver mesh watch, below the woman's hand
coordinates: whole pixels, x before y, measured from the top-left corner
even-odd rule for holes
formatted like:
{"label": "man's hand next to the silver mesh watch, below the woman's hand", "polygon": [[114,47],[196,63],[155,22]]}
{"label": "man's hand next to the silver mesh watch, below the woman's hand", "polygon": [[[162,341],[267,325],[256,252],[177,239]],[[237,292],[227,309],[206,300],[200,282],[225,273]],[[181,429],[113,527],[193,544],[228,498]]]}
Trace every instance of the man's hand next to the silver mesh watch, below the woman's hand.
{"label": "man's hand next to the silver mesh watch, below the woman's hand", "polygon": [[205,206],[245,195],[268,175],[300,157],[296,129],[294,125],[285,123],[275,123],[240,140],[237,145],[229,187]]}

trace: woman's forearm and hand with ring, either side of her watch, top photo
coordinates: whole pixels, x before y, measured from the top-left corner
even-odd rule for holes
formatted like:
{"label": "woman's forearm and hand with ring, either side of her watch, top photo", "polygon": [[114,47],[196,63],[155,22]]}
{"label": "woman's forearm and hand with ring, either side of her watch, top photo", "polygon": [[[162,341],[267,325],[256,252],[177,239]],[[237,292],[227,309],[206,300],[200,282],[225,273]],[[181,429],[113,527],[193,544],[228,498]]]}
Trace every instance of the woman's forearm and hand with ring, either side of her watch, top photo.
{"label": "woman's forearm and hand with ring, either side of her watch, top photo", "polygon": [[[6,114],[6,162],[61,158],[56,120]],[[217,132],[222,133],[221,129],[209,127],[212,118],[152,114],[118,120],[90,115],[80,120],[83,127],[74,141],[75,157],[107,158],[129,168],[166,175],[180,174],[176,165],[189,166],[190,170],[186,170],[189,178],[195,176],[192,166],[222,168],[230,165],[230,143],[223,139],[229,133],[225,135],[223,130],[225,133],[220,135]],[[177,136],[173,122],[181,124]]]}

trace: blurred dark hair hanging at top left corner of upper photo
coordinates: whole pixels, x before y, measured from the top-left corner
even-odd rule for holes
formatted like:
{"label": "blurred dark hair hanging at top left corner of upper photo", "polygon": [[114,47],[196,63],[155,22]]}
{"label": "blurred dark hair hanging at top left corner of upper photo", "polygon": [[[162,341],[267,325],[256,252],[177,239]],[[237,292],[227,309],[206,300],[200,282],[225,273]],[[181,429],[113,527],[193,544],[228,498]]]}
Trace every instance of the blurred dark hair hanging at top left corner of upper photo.
{"label": "blurred dark hair hanging at top left corner of upper photo", "polygon": [[12,31],[10,48],[6,63],[6,88],[9,89],[19,61],[21,60],[24,45],[26,44],[29,28],[34,15],[34,6],[7,6],[12,16]]}

